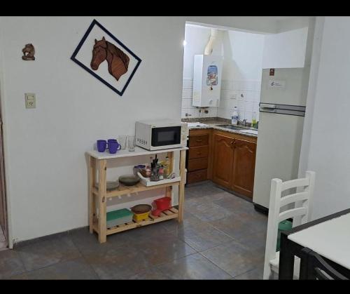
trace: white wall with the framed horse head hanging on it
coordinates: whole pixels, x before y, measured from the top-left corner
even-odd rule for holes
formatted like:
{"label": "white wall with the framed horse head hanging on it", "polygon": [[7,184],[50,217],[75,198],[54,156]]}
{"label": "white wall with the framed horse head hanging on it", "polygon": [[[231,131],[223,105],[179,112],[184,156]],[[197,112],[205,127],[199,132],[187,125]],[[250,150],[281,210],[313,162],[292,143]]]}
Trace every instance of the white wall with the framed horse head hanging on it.
{"label": "white wall with the framed horse head hanging on it", "polygon": [[[138,119],[181,117],[186,20],[276,32],[274,18],[97,18],[142,60],[120,98],[70,60],[92,19],[0,18],[10,242],[87,225],[84,152],[95,140],[134,133]],[[27,43],[33,62],[21,59]],[[25,93],[36,93],[36,109],[25,109]]]}

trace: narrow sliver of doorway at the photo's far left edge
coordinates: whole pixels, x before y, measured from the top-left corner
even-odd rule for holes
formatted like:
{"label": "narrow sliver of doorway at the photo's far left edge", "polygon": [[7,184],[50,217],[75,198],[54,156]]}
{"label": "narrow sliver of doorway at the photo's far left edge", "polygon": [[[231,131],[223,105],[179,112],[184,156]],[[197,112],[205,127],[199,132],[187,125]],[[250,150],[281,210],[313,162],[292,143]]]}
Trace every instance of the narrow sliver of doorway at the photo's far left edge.
{"label": "narrow sliver of doorway at the photo's far left edge", "polygon": [[0,107],[0,250],[8,246],[5,168],[3,161],[3,123],[1,113]]}

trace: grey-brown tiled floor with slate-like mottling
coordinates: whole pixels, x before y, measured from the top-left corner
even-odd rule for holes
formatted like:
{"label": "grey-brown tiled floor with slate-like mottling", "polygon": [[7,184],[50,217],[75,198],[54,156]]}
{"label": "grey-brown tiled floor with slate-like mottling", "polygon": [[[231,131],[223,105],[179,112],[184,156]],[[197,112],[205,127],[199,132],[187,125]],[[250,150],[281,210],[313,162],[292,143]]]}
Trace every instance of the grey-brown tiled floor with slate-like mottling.
{"label": "grey-brown tiled floor with slate-like mottling", "polygon": [[186,187],[185,218],[99,244],[86,228],[0,251],[0,279],[262,279],[267,217],[211,182]]}

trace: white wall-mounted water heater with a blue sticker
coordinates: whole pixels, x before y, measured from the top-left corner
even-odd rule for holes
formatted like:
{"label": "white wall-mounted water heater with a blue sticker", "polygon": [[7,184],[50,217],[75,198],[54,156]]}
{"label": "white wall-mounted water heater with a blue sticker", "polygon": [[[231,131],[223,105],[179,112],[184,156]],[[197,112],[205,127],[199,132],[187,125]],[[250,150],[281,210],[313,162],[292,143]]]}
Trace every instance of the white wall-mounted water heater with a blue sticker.
{"label": "white wall-mounted water heater with a blue sticker", "polygon": [[192,105],[218,107],[220,101],[223,57],[195,55]]}

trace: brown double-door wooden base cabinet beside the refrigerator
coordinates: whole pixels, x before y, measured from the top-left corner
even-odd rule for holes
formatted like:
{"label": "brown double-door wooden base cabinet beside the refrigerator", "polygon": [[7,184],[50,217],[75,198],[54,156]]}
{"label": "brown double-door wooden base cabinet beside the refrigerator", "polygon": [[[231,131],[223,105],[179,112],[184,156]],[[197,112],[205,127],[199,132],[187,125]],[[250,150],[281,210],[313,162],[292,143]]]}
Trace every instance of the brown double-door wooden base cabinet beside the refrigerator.
{"label": "brown double-door wooden base cabinet beside the refrigerator", "polygon": [[212,144],[213,182],[253,197],[256,138],[214,130]]}

